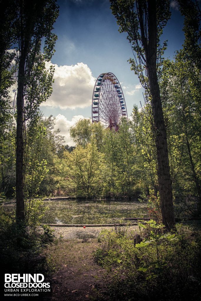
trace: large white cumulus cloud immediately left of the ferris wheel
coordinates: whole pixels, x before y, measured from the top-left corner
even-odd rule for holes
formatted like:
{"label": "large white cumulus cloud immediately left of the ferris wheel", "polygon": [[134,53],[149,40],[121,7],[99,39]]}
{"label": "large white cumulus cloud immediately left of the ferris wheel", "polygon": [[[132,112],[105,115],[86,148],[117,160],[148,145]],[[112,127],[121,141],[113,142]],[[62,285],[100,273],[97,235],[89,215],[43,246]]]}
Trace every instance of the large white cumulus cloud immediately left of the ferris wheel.
{"label": "large white cumulus cloud immediately left of the ferris wheel", "polygon": [[[46,68],[50,67],[46,62]],[[53,92],[50,98],[41,104],[45,107],[59,107],[60,109],[84,108],[91,105],[95,78],[90,68],[83,63],[71,66],[55,67]]]}

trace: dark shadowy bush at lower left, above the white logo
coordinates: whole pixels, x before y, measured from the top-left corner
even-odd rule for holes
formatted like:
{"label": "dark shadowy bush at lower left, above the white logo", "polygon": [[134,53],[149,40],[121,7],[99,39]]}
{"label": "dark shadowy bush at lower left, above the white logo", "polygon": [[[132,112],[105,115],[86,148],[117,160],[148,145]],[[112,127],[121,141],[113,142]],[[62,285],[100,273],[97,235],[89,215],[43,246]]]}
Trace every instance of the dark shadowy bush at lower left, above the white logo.
{"label": "dark shadowy bush at lower left, above the white logo", "polygon": [[31,231],[26,224],[18,224],[14,216],[0,208],[1,269],[4,273],[46,274],[49,264],[42,250],[55,239],[52,230],[44,226]]}

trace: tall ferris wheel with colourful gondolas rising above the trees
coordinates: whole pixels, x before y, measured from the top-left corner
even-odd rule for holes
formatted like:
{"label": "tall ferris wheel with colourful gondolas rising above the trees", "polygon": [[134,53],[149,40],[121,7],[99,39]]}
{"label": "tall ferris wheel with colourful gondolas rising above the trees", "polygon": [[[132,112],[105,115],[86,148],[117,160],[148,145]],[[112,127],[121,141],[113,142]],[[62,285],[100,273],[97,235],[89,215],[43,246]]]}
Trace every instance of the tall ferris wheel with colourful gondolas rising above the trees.
{"label": "tall ferris wheel with colourful gondolas rising above the trees", "polygon": [[128,120],[121,85],[113,73],[102,73],[93,89],[92,123],[100,121],[105,127],[118,131],[122,116]]}

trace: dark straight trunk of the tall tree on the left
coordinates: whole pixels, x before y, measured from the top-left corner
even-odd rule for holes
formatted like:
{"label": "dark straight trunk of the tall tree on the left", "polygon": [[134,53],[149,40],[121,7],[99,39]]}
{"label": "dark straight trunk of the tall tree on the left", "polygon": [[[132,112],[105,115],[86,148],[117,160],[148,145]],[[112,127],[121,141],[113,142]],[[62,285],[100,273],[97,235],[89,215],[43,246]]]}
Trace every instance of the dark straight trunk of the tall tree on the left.
{"label": "dark straight trunk of the tall tree on the left", "polygon": [[[45,1],[41,0],[41,3]],[[19,20],[19,69],[17,83],[17,127],[16,127],[16,219],[24,220],[24,86],[26,85],[25,65],[29,51],[30,40],[33,35],[33,29],[36,20],[36,1],[25,6],[26,1],[20,1],[20,20]],[[25,8],[26,7],[26,8]],[[23,25],[23,14],[26,10],[26,25]]]}

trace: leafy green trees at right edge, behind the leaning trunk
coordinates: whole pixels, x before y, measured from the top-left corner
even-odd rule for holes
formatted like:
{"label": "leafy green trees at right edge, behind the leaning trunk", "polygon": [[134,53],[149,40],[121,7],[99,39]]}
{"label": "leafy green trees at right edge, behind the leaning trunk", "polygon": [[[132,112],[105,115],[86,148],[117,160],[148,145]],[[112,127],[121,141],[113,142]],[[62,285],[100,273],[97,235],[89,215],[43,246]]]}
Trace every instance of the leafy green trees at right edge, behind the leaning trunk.
{"label": "leafy green trees at right edge, behind the leaning trunk", "polygon": [[[172,181],[177,185],[180,196],[177,191],[175,194],[177,199],[180,198],[181,205],[185,205],[187,199],[191,200],[188,212],[199,216],[201,213],[201,118],[197,106],[200,96],[196,95],[200,95],[201,89],[198,85],[193,85],[191,77],[192,73],[198,75],[199,70],[191,64],[186,64],[186,58],[182,54],[183,50],[175,56],[175,61],[164,62],[161,93],[168,120],[171,166],[176,167],[175,172],[172,172]],[[193,206],[195,200],[197,204]]]}

